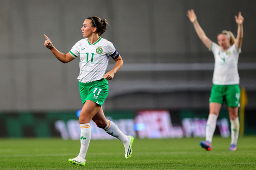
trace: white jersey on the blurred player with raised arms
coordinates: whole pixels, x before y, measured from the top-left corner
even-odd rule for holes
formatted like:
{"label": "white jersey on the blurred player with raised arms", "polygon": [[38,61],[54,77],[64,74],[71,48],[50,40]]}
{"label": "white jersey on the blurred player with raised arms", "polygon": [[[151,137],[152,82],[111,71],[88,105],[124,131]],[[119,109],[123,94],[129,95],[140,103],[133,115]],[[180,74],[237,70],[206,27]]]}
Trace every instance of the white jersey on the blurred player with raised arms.
{"label": "white jersey on the blurred player with raised arms", "polygon": [[237,69],[239,50],[235,44],[225,52],[221,46],[212,42],[210,51],[215,58],[213,84],[214,85],[238,85],[239,74]]}

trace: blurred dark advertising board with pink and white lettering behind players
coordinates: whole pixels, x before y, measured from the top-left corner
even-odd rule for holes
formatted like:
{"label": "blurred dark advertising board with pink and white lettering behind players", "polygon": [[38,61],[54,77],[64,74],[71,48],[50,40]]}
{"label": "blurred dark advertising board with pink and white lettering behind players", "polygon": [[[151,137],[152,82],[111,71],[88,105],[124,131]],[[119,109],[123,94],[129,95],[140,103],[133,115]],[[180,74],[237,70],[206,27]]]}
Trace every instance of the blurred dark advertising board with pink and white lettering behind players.
{"label": "blurred dark advertising board with pink and white lettering behind players", "polygon": [[[254,111],[245,114],[244,135],[256,135]],[[139,138],[205,137],[207,110],[119,110],[105,111],[108,119],[125,134]],[[79,140],[76,111],[0,113],[0,138],[62,137]],[[91,122],[92,139],[113,139]],[[228,111],[222,110],[215,135],[230,136]]]}

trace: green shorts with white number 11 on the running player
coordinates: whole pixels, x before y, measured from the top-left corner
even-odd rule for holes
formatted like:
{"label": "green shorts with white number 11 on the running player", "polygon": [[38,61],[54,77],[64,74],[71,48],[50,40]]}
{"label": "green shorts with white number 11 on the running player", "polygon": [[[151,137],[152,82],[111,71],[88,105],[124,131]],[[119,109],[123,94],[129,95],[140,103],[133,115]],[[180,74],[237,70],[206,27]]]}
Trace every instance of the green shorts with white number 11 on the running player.
{"label": "green shorts with white number 11 on the running player", "polygon": [[108,80],[103,78],[89,83],[79,81],[79,90],[83,104],[86,100],[91,100],[98,105],[102,105],[108,96]]}

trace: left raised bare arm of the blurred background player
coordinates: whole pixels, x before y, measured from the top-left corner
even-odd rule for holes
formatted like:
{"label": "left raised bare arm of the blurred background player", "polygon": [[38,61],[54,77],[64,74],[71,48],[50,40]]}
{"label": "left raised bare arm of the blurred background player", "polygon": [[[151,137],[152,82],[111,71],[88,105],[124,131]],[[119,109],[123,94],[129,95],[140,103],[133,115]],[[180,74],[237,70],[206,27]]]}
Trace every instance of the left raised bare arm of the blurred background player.
{"label": "left raised bare arm of the blurred background player", "polygon": [[212,41],[206,36],[204,31],[202,30],[201,26],[199,25],[196,15],[193,9],[188,10],[187,16],[189,17],[189,20],[193,23],[195,32],[197,33],[198,37],[202,40],[202,43],[210,49]]}

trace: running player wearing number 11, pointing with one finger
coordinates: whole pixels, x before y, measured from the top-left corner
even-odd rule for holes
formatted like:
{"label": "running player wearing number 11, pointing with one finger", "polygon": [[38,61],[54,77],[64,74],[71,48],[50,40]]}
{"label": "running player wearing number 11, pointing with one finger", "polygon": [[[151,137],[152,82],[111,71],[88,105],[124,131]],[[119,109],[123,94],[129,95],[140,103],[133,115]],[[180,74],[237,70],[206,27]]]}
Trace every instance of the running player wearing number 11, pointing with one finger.
{"label": "running player wearing number 11, pointing with one finger", "polygon": [[[98,127],[104,129],[108,134],[117,137],[124,145],[125,158],[132,154],[134,138],[124,135],[115,123],[105,118],[101,105],[108,95],[108,80],[114,78],[115,73],[122,67],[123,60],[115,47],[107,39],[101,38],[106,31],[108,21],[99,17],[88,17],[81,28],[83,37],[72,49],[64,54],[59,52],[51,40],[46,36],[44,45],[53,52],[55,57],[63,63],[68,63],[80,57],[80,73],[78,76],[79,89],[82,103],[84,104],[79,123],[81,126],[81,149],[77,157],[68,161],[75,165],[85,166],[85,156],[91,140],[90,121],[93,120]],[[115,60],[114,68],[107,72],[108,59]]]}

